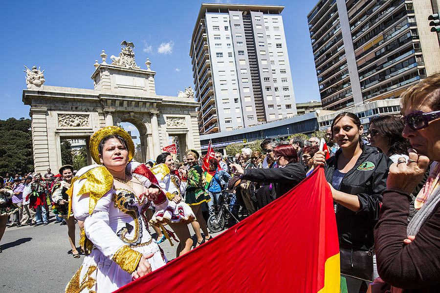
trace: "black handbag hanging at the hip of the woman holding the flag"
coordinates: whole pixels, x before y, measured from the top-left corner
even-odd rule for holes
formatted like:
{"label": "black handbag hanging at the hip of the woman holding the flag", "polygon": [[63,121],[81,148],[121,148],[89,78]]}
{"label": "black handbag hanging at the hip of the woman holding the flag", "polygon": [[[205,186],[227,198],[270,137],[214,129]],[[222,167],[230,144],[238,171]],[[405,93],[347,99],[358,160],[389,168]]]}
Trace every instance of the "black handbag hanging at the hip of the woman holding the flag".
{"label": "black handbag hanging at the hip of the woman holding the flag", "polygon": [[374,247],[363,251],[351,245],[339,244],[341,273],[356,279],[373,282]]}

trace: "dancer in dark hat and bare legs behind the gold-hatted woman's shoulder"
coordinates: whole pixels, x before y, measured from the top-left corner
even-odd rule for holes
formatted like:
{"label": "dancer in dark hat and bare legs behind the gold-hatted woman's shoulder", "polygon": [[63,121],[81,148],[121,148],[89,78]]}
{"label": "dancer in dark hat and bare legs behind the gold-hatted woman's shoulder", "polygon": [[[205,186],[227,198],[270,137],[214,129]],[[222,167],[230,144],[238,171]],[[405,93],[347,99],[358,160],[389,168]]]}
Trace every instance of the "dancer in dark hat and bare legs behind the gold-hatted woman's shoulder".
{"label": "dancer in dark hat and bare legs behind the gold-hatted woman's shoulder", "polygon": [[63,217],[67,224],[67,235],[70,246],[72,247],[72,255],[74,258],[79,258],[80,253],[75,246],[75,218],[73,217],[72,209],[69,209],[69,196],[66,193],[70,188],[72,182],[73,167],[71,165],[64,165],[59,170],[63,180],[57,182],[52,188],[52,200],[54,201],[54,213]]}

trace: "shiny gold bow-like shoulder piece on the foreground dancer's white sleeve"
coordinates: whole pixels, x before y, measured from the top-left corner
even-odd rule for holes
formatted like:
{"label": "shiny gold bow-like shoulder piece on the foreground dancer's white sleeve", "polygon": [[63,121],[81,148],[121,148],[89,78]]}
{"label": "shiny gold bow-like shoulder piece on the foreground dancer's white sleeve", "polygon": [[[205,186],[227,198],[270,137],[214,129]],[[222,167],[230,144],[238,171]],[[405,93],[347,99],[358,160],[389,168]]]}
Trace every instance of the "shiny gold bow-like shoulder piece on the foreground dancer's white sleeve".
{"label": "shiny gold bow-like shoulder piece on the foreground dancer's white sleeve", "polygon": [[113,176],[111,176],[109,170],[106,167],[96,167],[88,170],[86,173],[79,177],[73,177],[70,188],[66,191],[69,195],[69,209],[72,205],[72,193],[73,186],[77,180],[86,179],[83,187],[80,189],[76,196],[81,196],[84,193],[90,194],[90,200],[88,204],[88,214],[92,214],[95,209],[96,202],[103,197],[113,187]]}

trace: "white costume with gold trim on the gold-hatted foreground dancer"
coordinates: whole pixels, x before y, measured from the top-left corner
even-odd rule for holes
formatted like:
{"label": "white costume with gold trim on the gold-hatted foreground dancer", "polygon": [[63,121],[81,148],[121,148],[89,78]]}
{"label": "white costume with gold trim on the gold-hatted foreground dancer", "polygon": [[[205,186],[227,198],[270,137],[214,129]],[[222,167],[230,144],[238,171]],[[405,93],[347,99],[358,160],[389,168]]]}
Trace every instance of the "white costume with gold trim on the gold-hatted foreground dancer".
{"label": "white costume with gold trim on the gold-hatted foreground dancer", "polygon": [[[145,165],[132,162],[126,170],[145,187],[158,187]],[[153,271],[166,263],[148,230],[144,212],[149,200],[126,189],[115,189],[113,180],[106,167],[92,165],[78,171],[67,191],[75,218],[84,221],[86,243],[91,242],[93,249],[67,284],[66,293],[117,290],[132,281],[131,273],[142,254],[154,253],[148,259]],[[163,191],[154,204],[157,209],[168,206]]]}

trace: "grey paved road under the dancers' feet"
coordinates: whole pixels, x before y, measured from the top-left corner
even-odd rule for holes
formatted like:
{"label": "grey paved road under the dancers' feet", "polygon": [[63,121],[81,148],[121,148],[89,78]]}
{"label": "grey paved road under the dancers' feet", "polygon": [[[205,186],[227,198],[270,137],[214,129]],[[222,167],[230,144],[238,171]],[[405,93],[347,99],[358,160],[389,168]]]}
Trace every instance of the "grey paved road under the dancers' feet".
{"label": "grey paved road under the dancers' feet", "polygon": [[[54,223],[54,219],[51,217],[47,226],[6,228],[0,242],[3,250],[0,253],[0,293],[64,292],[84,256],[73,258],[68,253],[67,226]],[[191,228],[190,231],[193,232]],[[76,232],[78,244],[79,229]],[[168,241],[160,244],[169,260],[176,256],[174,243],[174,247]]]}

